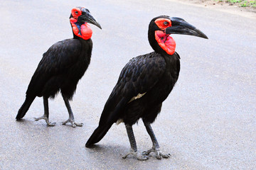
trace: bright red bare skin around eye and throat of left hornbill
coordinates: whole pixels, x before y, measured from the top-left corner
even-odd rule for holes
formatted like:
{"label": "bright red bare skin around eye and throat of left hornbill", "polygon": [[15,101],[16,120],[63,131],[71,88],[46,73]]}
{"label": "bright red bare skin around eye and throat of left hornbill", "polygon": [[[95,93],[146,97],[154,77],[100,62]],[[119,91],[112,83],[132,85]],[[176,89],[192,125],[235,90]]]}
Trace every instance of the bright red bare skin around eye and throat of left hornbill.
{"label": "bright red bare skin around eye and throat of left hornbill", "polygon": [[90,28],[90,26],[87,23],[82,24],[80,28],[75,25],[75,23],[78,21],[78,17],[82,15],[82,11],[80,10],[80,8],[73,8],[71,14],[73,18],[70,18],[70,23],[73,33],[84,40],[89,40],[92,37],[92,29]]}

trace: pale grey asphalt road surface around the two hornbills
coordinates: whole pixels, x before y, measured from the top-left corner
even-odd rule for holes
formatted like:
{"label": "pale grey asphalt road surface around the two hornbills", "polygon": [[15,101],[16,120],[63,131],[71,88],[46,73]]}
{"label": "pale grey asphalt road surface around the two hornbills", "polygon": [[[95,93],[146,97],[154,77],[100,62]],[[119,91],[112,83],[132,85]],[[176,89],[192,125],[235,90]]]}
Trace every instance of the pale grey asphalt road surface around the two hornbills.
{"label": "pale grey asphalt road surface around the two hornbills", "polygon": [[[23,121],[15,120],[43,52],[73,36],[70,10],[85,6],[101,24],[92,26],[92,60],[71,102],[82,128],[61,125],[68,111],[61,95],[36,98]],[[256,18],[178,1],[17,1],[0,6],[0,169],[256,169]],[[92,149],[85,142],[129,59],[151,52],[151,18],[178,16],[209,40],[173,35],[181,73],[152,125],[169,159],[140,162],[129,152],[124,124],[113,125]],[[134,125],[139,152],[151,148],[140,120]]]}

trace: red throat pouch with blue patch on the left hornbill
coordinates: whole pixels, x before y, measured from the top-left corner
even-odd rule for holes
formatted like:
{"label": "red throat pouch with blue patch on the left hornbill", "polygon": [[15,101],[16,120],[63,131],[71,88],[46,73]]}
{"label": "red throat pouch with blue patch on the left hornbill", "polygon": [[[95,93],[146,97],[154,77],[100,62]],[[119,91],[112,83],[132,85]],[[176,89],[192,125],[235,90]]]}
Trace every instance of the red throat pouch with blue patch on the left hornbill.
{"label": "red throat pouch with blue patch on the left hornbill", "polygon": [[78,23],[75,18],[70,18],[70,24],[73,30],[74,38],[82,38],[83,40],[89,40],[92,37],[92,29],[88,23]]}

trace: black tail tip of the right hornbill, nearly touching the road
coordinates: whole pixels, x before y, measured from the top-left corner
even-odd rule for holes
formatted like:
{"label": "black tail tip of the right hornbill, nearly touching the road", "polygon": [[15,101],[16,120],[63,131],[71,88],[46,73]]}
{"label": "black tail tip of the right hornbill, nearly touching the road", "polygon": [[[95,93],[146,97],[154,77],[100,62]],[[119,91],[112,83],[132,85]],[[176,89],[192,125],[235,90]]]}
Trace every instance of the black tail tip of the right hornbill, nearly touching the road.
{"label": "black tail tip of the right hornbill, nearly touching the road", "polygon": [[90,147],[91,145],[100,142],[100,140],[102,140],[102,138],[106,135],[107,131],[110,130],[111,126],[112,124],[107,126],[99,125],[92,133],[89,140],[87,140],[85,147]]}

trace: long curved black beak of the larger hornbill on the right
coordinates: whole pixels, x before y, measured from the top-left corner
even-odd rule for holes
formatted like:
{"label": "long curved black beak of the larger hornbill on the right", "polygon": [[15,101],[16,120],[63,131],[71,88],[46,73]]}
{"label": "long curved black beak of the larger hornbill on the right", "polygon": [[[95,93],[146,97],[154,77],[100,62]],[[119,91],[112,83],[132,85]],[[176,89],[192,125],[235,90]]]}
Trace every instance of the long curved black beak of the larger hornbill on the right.
{"label": "long curved black beak of the larger hornbill on the right", "polygon": [[171,27],[166,28],[166,34],[193,35],[208,39],[208,37],[201,30],[198,30],[196,27],[187,23],[182,18],[177,17],[171,17]]}

